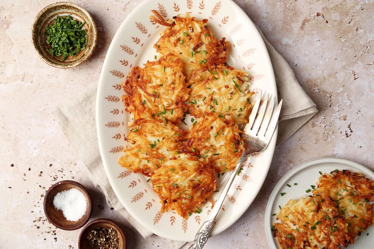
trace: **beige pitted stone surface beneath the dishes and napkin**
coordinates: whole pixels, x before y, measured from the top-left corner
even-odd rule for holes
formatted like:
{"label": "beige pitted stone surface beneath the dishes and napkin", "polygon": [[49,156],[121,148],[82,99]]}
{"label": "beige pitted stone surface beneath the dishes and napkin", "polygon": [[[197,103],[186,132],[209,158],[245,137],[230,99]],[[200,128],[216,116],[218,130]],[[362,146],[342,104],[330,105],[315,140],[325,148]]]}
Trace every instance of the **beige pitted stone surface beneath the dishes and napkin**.
{"label": "beige pitted stone surface beneath the dishes and napkin", "polygon": [[[30,39],[34,17],[54,1],[0,2],[0,248],[77,248],[80,230],[56,229],[42,205],[49,186],[70,179],[94,196],[91,220],[118,221],[129,248],[168,248],[160,237],[143,239],[108,208],[50,113],[57,103],[98,83],[114,33],[140,1],[71,1],[91,13],[99,37],[86,63],[65,70],[42,62]],[[266,249],[267,199],[290,169],[323,156],[374,169],[374,7],[372,1],[353,0],[236,2],[289,62],[319,109],[277,147],[261,194],[245,214],[205,247]]]}

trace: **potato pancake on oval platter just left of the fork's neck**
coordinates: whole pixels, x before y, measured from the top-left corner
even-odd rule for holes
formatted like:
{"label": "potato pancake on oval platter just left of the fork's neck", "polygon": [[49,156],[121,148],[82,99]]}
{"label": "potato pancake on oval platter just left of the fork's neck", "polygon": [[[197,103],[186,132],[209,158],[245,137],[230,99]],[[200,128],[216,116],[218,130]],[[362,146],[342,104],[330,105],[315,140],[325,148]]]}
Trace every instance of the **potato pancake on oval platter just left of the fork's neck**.
{"label": "potato pancake on oval platter just left of the fork's neck", "polygon": [[183,151],[196,156],[204,164],[221,173],[235,168],[242,155],[243,141],[232,114],[219,117],[208,112],[202,118],[193,119]]}

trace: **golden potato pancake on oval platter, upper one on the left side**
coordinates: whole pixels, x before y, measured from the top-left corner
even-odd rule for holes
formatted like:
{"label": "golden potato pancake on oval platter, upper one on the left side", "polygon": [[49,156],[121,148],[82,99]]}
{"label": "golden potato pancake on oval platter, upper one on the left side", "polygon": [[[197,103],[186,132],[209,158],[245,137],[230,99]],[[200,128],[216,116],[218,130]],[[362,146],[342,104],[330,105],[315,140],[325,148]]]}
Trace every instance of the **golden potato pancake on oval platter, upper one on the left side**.
{"label": "golden potato pancake on oval platter, upper one on the left side", "polygon": [[[123,97],[126,111],[134,119],[150,118],[180,121],[187,106],[188,89],[185,84],[181,59],[169,54],[159,60],[147,62],[144,68],[135,66],[122,83],[127,95]],[[155,115],[156,114],[156,115]]]}

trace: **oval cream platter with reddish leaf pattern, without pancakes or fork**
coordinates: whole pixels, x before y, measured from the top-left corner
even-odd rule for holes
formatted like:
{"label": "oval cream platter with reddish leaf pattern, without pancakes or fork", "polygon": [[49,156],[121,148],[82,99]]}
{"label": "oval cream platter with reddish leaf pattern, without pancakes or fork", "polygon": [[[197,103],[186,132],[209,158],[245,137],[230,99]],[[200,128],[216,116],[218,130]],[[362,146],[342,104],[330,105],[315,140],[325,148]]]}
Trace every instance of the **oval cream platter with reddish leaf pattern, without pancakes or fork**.
{"label": "oval cream platter with reddish leaf pattern, without pancakes or fork", "polygon": [[[188,242],[194,239],[211,205],[206,203],[200,214],[192,214],[187,220],[173,211],[162,214],[159,211],[159,197],[147,182],[148,178],[130,173],[117,163],[124,154],[123,148],[128,146],[123,137],[129,132],[128,122],[132,118],[122,104],[124,92],[121,82],[125,81],[133,66],[142,66],[147,60],[153,60],[156,55],[153,44],[159,39],[159,31],[165,28],[149,18],[153,9],[165,19],[186,12],[197,19],[208,19],[213,33],[218,38],[226,37],[230,42],[227,62],[249,73],[250,89],[263,90],[271,96],[276,96],[277,90],[264,41],[246,13],[231,0],[187,0],[176,3],[145,0],[119,27],[105,57],[96,99],[96,126],[104,168],[116,196],[132,217],[161,237]],[[187,124],[189,126],[190,122]],[[184,125],[181,127],[188,128]],[[272,162],[276,133],[264,152],[255,154],[243,165],[242,173],[226,196],[211,236],[237,221],[255,199]],[[218,190],[226,183],[227,175],[218,178]],[[217,199],[218,194],[215,193],[212,199]]]}

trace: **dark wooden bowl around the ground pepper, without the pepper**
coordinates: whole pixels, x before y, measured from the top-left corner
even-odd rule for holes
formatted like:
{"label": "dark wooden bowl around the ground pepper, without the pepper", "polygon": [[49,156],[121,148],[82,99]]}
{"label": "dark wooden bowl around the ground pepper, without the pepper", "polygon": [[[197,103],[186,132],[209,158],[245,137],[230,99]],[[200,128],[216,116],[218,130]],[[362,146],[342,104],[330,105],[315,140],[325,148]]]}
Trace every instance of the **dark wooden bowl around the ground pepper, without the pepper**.
{"label": "dark wooden bowl around the ground pepper, without the pepper", "polygon": [[126,243],[126,237],[125,233],[123,232],[122,228],[117,225],[116,222],[109,220],[109,219],[98,219],[91,221],[86,225],[82,231],[79,234],[79,240],[78,240],[78,248],[79,249],[92,249],[92,246],[90,242],[87,239],[88,233],[96,227],[102,227],[102,228],[113,228],[117,231],[118,235],[118,249],[126,249],[127,243]]}

